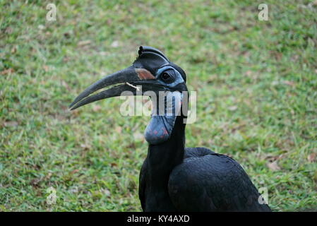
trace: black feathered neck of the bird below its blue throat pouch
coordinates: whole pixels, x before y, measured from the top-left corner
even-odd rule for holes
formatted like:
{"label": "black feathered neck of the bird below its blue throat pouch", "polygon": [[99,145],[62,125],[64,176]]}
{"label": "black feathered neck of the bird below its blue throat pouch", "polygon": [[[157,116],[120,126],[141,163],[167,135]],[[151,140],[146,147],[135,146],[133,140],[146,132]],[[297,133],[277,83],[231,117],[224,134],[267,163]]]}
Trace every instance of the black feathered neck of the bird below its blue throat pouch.
{"label": "black feathered neck of the bird below its blue throat pouch", "polygon": [[184,159],[185,126],[178,116],[169,139],[158,145],[149,145],[147,156],[148,180],[157,187],[167,186],[172,169]]}

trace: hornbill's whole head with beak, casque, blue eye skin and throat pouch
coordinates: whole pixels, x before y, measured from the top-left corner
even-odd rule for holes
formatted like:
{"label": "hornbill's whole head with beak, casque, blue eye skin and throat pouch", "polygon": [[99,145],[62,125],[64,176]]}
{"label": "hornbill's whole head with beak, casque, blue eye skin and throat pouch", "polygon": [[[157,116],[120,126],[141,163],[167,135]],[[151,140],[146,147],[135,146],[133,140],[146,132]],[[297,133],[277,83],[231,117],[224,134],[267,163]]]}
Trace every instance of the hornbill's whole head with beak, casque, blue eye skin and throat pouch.
{"label": "hornbill's whole head with beak, casque, blue eye skin and throat pouch", "polygon": [[[112,87],[91,95],[109,86]],[[177,116],[184,116],[181,111],[184,91],[187,91],[187,87],[183,69],[169,61],[158,49],[141,46],[131,66],[96,81],[80,93],[69,107],[73,110],[97,100],[121,95],[150,96],[152,114],[145,129],[145,139],[156,145],[168,140]]]}

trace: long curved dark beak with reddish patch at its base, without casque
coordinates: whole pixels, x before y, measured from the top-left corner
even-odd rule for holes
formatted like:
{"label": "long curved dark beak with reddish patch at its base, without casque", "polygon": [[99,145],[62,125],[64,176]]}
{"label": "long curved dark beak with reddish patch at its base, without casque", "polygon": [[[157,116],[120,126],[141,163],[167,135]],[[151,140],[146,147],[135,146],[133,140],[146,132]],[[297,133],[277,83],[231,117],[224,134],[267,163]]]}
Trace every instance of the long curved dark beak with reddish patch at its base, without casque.
{"label": "long curved dark beak with reddish patch at its base, without casque", "polygon": [[[136,95],[137,87],[133,84],[147,84],[150,85],[151,81],[154,80],[155,76],[150,73],[150,71],[146,69],[136,69],[134,66],[129,66],[126,69],[121,71],[116,71],[115,73],[110,74],[109,76],[105,76],[101,78],[99,81],[96,81],[88,88],[86,88],[82,93],[78,95],[78,97],[73,100],[69,108],[71,110],[81,107],[83,105],[88,105],[91,102],[95,102],[97,100],[106,99],[109,97],[117,97],[120,96],[124,91],[125,95]],[[97,90],[105,88],[109,85],[116,85],[108,90],[103,90],[100,93],[95,95],[91,95]],[[142,93],[146,92],[148,89],[142,89]]]}

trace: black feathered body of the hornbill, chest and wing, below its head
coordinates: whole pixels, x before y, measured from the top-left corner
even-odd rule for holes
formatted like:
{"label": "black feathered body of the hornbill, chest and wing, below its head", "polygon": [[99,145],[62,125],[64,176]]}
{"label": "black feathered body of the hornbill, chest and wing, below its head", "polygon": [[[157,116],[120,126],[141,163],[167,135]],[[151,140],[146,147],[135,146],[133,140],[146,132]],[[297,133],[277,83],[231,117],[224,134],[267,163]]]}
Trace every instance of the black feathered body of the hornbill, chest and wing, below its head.
{"label": "black feathered body of the hornbill, chest and wing, below its head", "polygon": [[169,143],[148,148],[139,179],[143,211],[270,211],[258,202],[256,187],[231,157],[184,148],[179,121]]}

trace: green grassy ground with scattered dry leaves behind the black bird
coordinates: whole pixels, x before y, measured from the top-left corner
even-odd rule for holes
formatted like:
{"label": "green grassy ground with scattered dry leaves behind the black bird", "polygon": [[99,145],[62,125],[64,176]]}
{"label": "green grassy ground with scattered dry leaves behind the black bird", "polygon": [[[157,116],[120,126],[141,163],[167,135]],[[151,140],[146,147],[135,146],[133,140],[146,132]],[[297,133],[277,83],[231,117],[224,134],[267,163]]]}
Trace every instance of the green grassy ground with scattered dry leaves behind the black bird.
{"label": "green grassy ground with scattered dry leaves behind the black bird", "polygon": [[317,209],[316,1],[265,1],[268,21],[251,0],[56,1],[47,21],[52,2],[0,1],[0,210],[140,210],[148,117],[67,109],[140,44],[198,91],[187,146],[232,155],[275,211]]}

